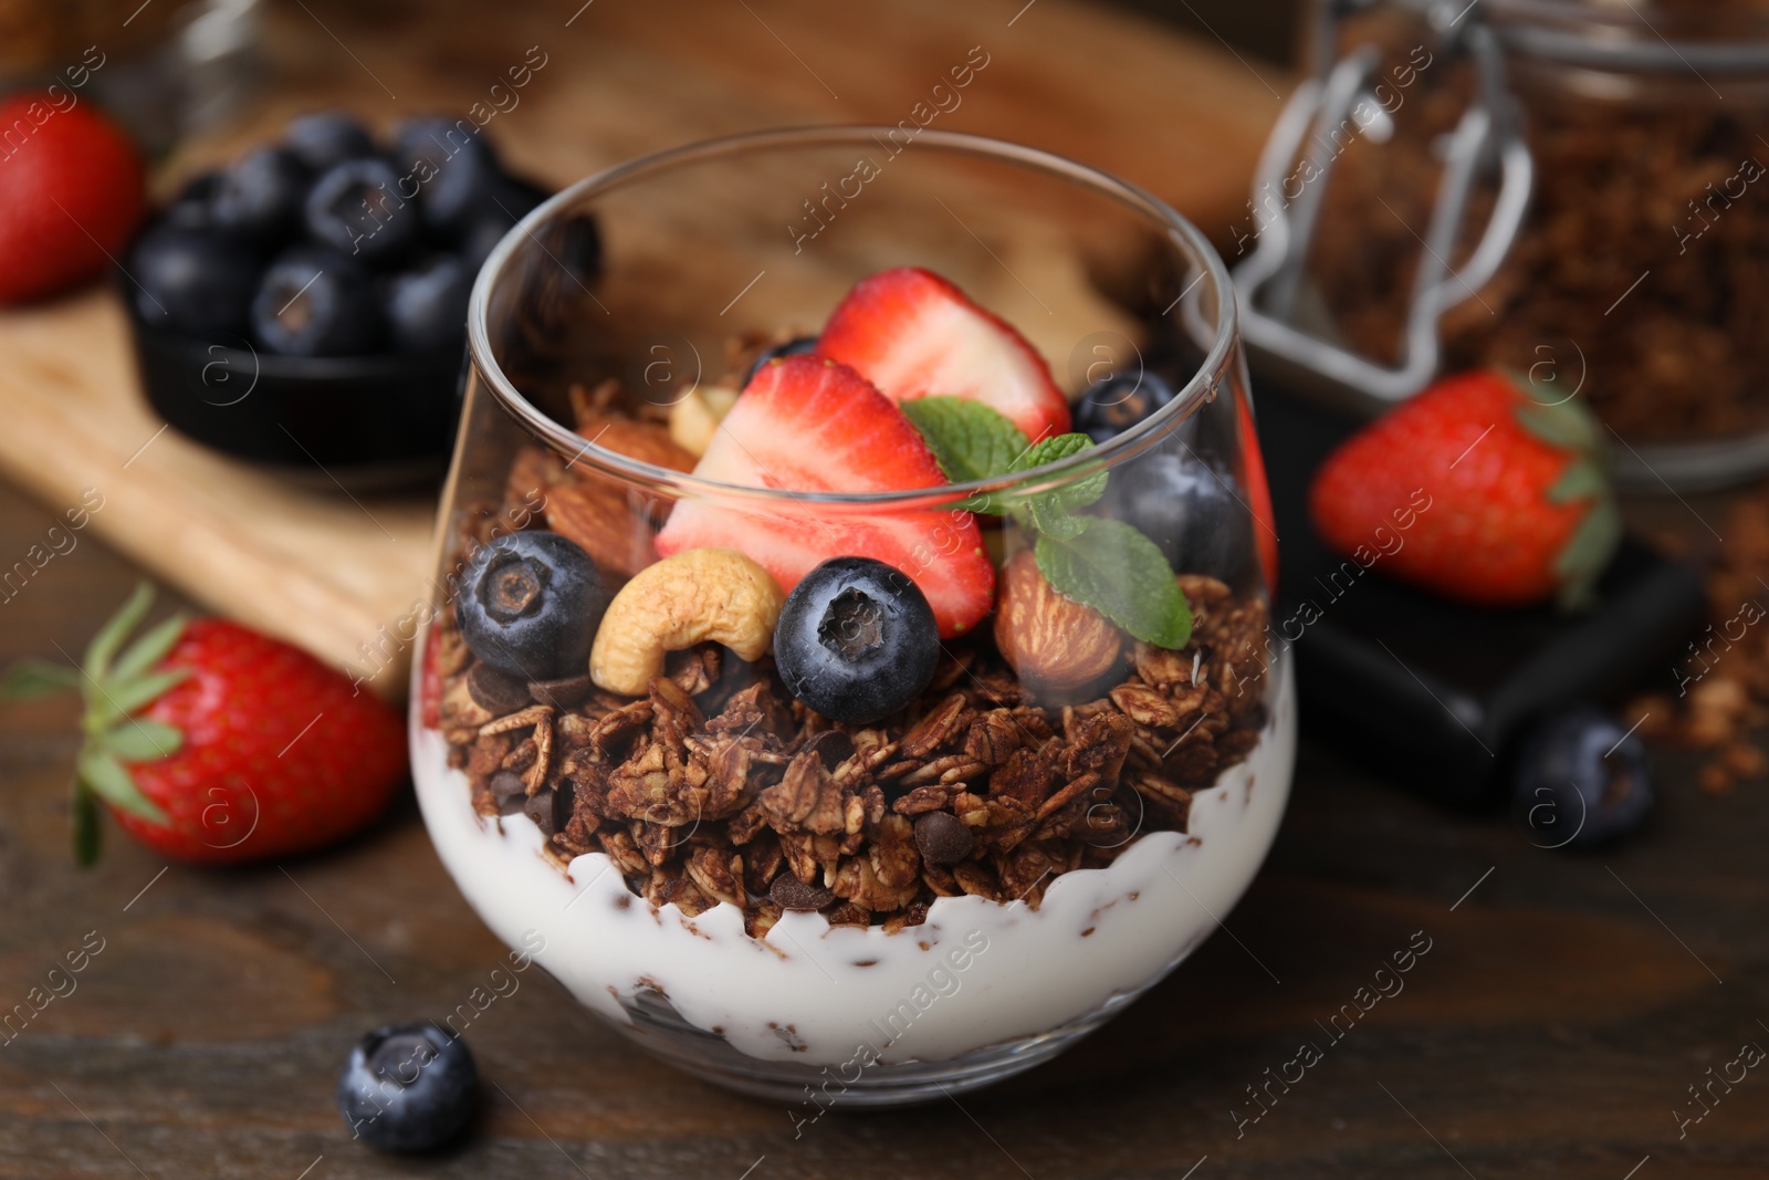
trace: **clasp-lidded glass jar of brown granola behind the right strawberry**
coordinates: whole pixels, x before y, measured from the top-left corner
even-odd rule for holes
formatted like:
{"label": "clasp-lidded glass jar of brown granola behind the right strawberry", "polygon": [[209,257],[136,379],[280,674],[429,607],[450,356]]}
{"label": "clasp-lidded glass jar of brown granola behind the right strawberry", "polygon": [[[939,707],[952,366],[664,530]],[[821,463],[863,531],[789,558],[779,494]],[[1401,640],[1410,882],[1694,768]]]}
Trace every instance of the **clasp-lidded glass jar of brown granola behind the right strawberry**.
{"label": "clasp-lidded glass jar of brown granola behind the right strawberry", "polygon": [[[1346,7],[1366,11],[1332,19]],[[1769,189],[1758,184],[1769,9],[1323,0],[1318,11],[1321,78],[1359,53],[1373,67],[1362,113],[1350,111],[1350,133],[1311,177],[1320,226],[1304,242],[1307,295],[1286,318],[1378,364],[1401,361],[1417,343],[1410,329],[1435,320],[1435,372],[1498,364],[1587,396],[1615,432],[1629,487],[1769,471]],[[1456,136],[1475,110],[1493,131],[1459,223],[1440,239]],[[1505,226],[1509,249],[1484,265],[1477,242],[1507,219],[1512,140],[1534,184],[1518,193],[1528,200]],[[1424,278],[1433,269],[1436,283]]]}

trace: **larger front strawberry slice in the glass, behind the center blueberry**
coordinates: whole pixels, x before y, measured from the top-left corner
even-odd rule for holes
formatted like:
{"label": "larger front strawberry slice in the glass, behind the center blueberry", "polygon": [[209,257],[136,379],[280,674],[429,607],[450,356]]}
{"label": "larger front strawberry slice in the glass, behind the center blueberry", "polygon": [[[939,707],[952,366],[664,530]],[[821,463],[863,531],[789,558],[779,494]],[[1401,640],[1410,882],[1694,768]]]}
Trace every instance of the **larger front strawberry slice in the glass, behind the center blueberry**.
{"label": "larger front strawberry slice in the glass, behind the center blueberry", "polygon": [[[770,361],[720,423],[693,474],[785,492],[907,492],[946,483],[922,435],[890,398],[835,361]],[[665,557],[725,545],[761,563],[787,593],[830,557],[872,557],[915,579],[945,639],[994,601],[994,566],[976,518],[959,510],[872,511],[810,501],[685,499],[658,533]]]}

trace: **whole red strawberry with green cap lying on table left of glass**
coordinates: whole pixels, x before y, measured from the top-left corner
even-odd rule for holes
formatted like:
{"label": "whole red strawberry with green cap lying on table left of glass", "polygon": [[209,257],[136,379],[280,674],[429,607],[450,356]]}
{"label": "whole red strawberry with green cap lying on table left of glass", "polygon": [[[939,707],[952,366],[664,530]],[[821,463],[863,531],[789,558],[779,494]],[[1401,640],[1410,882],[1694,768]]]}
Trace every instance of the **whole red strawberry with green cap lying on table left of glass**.
{"label": "whole red strawberry with green cap lying on table left of glass", "polygon": [[[405,775],[398,715],[299,647],[225,619],[173,616],[143,633],[136,587],[81,669],[23,662],[7,695],[80,688],[74,854],[97,858],[97,801],[173,860],[234,863],[331,844],[380,814]],[[120,651],[120,655],[119,655]]]}

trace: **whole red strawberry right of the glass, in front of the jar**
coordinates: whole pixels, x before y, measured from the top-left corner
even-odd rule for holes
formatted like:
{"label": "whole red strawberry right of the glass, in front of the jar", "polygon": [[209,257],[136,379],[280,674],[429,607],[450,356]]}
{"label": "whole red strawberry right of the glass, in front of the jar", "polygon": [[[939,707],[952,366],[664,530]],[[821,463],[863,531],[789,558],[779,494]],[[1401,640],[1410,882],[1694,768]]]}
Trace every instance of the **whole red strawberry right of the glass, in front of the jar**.
{"label": "whole red strawberry right of the glass, in front of the jar", "polygon": [[1498,370],[1445,377],[1346,439],[1309,515],[1359,564],[1484,607],[1587,605],[1620,541],[1597,421]]}

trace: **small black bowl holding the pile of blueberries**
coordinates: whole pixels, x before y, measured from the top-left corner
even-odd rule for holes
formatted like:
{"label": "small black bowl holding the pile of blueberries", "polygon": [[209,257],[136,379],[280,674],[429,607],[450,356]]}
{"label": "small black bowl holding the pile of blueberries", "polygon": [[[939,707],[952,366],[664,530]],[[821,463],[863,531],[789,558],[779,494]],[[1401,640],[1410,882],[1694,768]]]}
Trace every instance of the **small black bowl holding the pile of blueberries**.
{"label": "small black bowl holding the pile of blueberries", "polygon": [[455,442],[465,347],[292,357],[234,334],[149,326],[119,276],[149,405],[179,433],[295,483],[384,492],[437,483]]}

